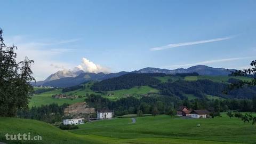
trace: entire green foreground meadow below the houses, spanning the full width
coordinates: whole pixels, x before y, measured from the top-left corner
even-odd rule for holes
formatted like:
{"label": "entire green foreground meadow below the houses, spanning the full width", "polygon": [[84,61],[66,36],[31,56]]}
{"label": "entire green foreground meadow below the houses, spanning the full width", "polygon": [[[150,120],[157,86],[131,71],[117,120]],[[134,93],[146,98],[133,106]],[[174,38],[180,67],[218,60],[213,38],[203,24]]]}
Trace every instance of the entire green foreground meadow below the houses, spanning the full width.
{"label": "entire green foreground meadow below the houses, spanning the full width", "polygon": [[[78,125],[78,130],[63,131],[31,119],[0,117],[0,141],[6,143],[169,143],[235,144],[255,143],[256,127],[241,119],[223,115],[214,119],[181,119],[177,116],[116,118]],[[196,124],[201,127],[196,127]],[[30,133],[42,141],[6,141],[4,135]]]}

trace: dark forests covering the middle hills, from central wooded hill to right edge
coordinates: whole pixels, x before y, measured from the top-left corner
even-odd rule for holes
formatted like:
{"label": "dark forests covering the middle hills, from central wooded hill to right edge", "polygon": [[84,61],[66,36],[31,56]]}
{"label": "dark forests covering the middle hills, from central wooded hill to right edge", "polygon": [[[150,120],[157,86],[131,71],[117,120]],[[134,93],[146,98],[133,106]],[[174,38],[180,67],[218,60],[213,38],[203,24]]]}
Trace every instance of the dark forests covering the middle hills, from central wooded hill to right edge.
{"label": "dark forests covering the middle hills, from central wooded hill to right edge", "polygon": [[[191,74],[175,74],[172,76],[186,77],[197,76],[197,73]],[[134,86],[148,85],[160,91],[161,95],[169,95],[172,97],[179,97],[185,99],[185,94],[193,94],[198,98],[205,98],[205,94],[215,95],[221,98],[237,98],[246,99],[253,98],[256,95],[256,86],[243,86],[241,89],[230,89],[228,83],[212,82],[209,79],[202,79],[198,81],[184,81],[179,79],[178,81],[167,81],[166,83],[160,83],[155,76],[169,76],[166,74],[126,74],[120,77],[110,78],[101,82],[94,83],[91,87],[93,91],[114,91],[121,89],[130,89]],[[228,82],[231,84],[241,83],[242,81],[230,78]],[[79,86],[78,86],[79,87]],[[67,89],[73,89],[68,87]],[[65,90],[66,91],[66,90]]]}

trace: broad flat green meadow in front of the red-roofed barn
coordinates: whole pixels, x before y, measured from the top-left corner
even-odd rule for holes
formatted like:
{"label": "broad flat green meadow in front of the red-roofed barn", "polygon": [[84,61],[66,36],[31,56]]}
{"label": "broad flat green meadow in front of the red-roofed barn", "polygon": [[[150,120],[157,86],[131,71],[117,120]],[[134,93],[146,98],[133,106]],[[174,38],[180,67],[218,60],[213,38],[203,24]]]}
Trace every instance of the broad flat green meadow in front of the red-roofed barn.
{"label": "broad flat green meadow in front of the red-roofed barn", "polygon": [[[168,139],[183,139],[184,143],[189,143],[190,140],[203,140],[212,143],[256,142],[256,126],[243,123],[238,118],[229,118],[226,114],[213,119],[182,119],[177,116],[165,115],[136,119],[137,122],[134,124],[131,124],[131,118],[91,122],[79,125],[78,130],[70,132],[138,141],[141,139],[142,143],[147,143],[147,140],[150,139],[159,140],[159,143],[166,143]],[[201,127],[197,127],[197,124],[201,124]]]}

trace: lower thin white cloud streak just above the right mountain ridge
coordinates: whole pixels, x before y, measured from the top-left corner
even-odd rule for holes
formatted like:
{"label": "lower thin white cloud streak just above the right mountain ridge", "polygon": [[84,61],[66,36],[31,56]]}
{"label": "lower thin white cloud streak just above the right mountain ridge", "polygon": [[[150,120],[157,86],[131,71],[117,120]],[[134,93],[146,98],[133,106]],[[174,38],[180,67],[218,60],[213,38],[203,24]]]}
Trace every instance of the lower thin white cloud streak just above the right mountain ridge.
{"label": "lower thin white cloud streak just above the right mountain ridge", "polygon": [[165,68],[171,68],[171,67],[190,67],[190,66],[196,66],[196,65],[206,65],[209,63],[216,63],[216,62],[226,62],[226,61],[235,61],[235,60],[242,60],[242,59],[252,59],[253,57],[240,57],[240,58],[227,58],[227,59],[217,59],[217,60],[208,60],[208,61],[201,61],[201,62],[196,62],[196,63],[188,63],[188,64],[183,64],[183,65],[172,65],[172,66],[167,66]]}

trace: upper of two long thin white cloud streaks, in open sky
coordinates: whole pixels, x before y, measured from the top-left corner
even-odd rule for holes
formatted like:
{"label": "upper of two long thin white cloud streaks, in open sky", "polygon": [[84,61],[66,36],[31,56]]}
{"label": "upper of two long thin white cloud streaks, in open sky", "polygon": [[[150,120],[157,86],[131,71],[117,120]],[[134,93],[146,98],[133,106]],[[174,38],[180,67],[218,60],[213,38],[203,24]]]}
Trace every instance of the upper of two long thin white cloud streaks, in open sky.
{"label": "upper of two long thin white cloud streaks, in open sky", "polygon": [[211,43],[211,42],[218,42],[218,41],[224,41],[226,39],[233,38],[235,36],[228,36],[228,37],[221,37],[221,38],[214,38],[214,39],[208,39],[208,40],[202,40],[202,41],[195,41],[195,42],[186,42],[186,43],[176,43],[176,44],[169,44],[165,46],[160,47],[154,47],[151,48],[151,51],[159,51],[159,50],[165,50],[165,49],[171,49],[173,47],[179,47],[179,46],[187,46],[187,45],[195,45],[195,44],[203,44],[203,43]]}

